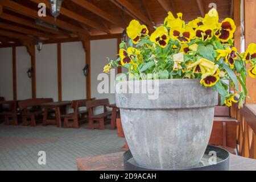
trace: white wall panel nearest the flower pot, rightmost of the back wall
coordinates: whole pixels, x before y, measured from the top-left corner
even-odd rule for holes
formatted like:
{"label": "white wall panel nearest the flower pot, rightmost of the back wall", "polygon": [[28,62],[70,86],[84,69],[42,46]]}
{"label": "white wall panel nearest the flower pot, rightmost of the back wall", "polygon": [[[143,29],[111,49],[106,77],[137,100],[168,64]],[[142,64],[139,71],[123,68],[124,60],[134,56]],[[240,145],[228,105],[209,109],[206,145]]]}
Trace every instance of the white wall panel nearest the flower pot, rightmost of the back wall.
{"label": "white wall panel nearest the flower pot, rightmost of the back wall", "polygon": [[[98,83],[101,81],[97,80],[98,74],[102,73],[104,65],[108,64],[108,59],[117,59],[117,39],[104,39],[104,40],[92,40],[90,42],[91,50],[91,95],[96,98],[109,98],[110,104],[115,103],[114,93],[103,93],[97,92]],[[115,74],[117,70],[115,70]],[[114,85],[110,85],[112,88]],[[110,91],[109,86],[109,91]]]}

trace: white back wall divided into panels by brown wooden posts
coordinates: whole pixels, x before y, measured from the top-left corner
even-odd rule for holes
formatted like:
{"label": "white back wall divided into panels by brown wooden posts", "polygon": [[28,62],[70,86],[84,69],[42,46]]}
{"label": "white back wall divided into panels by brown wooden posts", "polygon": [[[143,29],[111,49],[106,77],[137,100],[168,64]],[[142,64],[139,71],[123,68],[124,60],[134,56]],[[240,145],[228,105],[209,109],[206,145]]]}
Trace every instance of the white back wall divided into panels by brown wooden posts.
{"label": "white back wall divided into panels by brown wooden posts", "polygon": [[[91,41],[91,95],[109,98],[115,103],[115,94],[97,92],[98,74],[102,73],[109,59],[117,58],[117,39]],[[86,98],[85,51],[81,42],[61,44],[62,96],[63,100]],[[27,69],[31,58],[25,47],[16,47],[18,99],[31,98],[31,78]],[[115,71],[116,73],[117,71]],[[13,99],[12,49],[0,48],[0,96]],[[114,85],[111,85],[114,88]],[[109,89],[110,90],[110,89]],[[58,100],[57,89],[57,44],[44,44],[41,52],[36,50],[36,97],[52,97]]]}

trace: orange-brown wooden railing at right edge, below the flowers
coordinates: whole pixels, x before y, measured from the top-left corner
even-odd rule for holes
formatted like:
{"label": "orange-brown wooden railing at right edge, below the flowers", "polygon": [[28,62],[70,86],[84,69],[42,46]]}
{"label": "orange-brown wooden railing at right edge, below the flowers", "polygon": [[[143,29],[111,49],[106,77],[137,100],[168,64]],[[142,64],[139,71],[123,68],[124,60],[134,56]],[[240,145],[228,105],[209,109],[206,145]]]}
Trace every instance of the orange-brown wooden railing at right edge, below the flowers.
{"label": "orange-brown wooden railing at right edge, below the flowers", "polygon": [[231,116],[239,121],[237,129],[238,154],[256,159],[256,105],[244,105],[238,109],[238,103],[231,107]]}

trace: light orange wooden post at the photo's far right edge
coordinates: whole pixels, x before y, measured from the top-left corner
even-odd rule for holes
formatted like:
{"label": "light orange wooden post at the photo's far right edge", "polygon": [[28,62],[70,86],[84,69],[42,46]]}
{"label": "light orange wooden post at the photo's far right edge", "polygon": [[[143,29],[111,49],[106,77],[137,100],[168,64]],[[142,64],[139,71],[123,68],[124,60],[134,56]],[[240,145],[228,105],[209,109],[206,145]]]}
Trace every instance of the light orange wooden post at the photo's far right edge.
{"label": "light orange wooden post at the photo's far right edge", "polygon": [[[245,13],[245,49],[250,43],[256,42],[256,19],[255,19],[255,0],[244,0],[244,13]],[[246,65],[248,69],[250,64]],[[256,79],[247,76],[246,88],[248,91],[248,98],[246,98],[246,104],[256,104]]]}

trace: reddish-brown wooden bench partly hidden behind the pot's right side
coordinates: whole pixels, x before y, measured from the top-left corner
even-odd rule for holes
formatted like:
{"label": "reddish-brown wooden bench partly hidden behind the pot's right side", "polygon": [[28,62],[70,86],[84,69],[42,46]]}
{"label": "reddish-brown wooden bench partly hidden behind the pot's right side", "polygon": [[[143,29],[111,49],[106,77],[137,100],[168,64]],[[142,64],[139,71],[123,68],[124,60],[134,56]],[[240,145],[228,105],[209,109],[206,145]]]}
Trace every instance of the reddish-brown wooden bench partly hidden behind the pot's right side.
{"label": "reddish-brown wooden bench partly hidden behind the pot's right side", "polygon": [[232,154],[237,154],[238,125],[237,119],[230,117],[228,106],[215,106],[209,143],[221,146]]}

